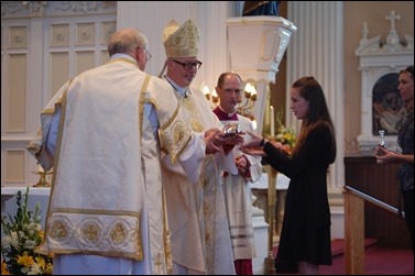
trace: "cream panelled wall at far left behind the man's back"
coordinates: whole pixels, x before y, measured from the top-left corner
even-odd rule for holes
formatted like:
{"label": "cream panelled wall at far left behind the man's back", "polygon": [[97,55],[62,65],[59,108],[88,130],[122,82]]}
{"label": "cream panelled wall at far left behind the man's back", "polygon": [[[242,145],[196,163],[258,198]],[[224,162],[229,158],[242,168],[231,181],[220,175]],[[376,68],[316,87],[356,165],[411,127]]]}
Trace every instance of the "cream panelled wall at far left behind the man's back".
{"label": "cream panelled wall at far left behind the man's back", "polygon": [[47,1],[35,11],[22,1],[1,2],[2,185],[39,180],[32,174],[36,161],[25,147],[41,126],[41,111],[69,78],[108,60],[117,7],[94,3]]}

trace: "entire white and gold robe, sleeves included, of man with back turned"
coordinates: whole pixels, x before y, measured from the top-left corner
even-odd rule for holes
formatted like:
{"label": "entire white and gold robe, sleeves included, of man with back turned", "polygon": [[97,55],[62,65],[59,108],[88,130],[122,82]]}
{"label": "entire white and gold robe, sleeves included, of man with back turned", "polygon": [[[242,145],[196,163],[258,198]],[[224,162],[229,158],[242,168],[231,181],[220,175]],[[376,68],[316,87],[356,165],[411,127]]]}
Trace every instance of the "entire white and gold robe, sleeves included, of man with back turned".
{"label": "entire white and gold robe, sleeves included, of man with back turned", "polygon": [[[88,75],[96,76],[89,79]],[[120,81],[114,82],[113,76],[120,76]],[[160,147],[149,134],[143,104],[157,108],[163,146],[173,161],[190,132],[183,125],[174,128],[181,114],[175,98],[156,100],[168,98],[161,92],[171,86],[152,78],[140,91],[144,77],[135,63],[111,59],[68,81],[43,111],[42,132],[28,147],[45,169],[54,166],[46,239],[39,252],[144,258],[151,262],[153,274],[167,273],[171,255],[165,249],[168,229],[162,205]],[[56,111],[62,114],[53,157],[45,143]],[[142,233],[143,210],[149,212],[144,216],[149,220],[144,232],[149,233]],[[142,239],[150,239],[151,261],[143,255]]]}

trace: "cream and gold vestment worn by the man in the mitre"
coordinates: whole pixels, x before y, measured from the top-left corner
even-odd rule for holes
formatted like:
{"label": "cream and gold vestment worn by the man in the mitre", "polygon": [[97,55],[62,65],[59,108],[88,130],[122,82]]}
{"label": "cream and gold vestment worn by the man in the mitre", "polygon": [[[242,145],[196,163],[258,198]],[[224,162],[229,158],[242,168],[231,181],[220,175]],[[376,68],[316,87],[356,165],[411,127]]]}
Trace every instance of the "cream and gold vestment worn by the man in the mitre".
{"label": "cream and gold vestment worn by the man in the mitre", "polygon": [[[200,91],[189,88],[187,98],[177,93],[176,97],[187,114],[184,122],[193,131],[200,133],[214,126],[222,128]],[[232,156],[227,157],[233,161]],[[194,273],[229,275],[234,274],[234,266],[218,159],[214,155],[206,156],[196,183],[188,180],[168,155],[163,157],[162,170],[173,261]],[[195,166],[195,169],[199,168]]]}

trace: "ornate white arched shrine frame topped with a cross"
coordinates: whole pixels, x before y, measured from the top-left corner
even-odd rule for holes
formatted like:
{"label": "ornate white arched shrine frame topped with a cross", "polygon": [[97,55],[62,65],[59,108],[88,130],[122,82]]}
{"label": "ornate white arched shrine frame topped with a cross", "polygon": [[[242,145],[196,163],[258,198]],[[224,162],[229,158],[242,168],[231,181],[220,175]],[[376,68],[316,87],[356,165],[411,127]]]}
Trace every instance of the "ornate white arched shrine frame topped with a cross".
{"label": "ornate white arched shrine frame topped with a cross", "polygon": [[[374,125],[374,115],[378,112],[375,106],[378,101],[376,88],[387,82],[387,79],[395,78],[397,84],[398,71],[414,64],[414,37],[409,35],[400,37],[395,30],[395,20],[400,20],[401,16],[395,11],[391,11],[385,19],[391,21],[387,37],[368,38],[369,27],[364,22],[362,38],[356,49],[356,55],[360,57],[359,69],[361,70],[361,130],[358,142],[360,151],[370,154],[372,154],[371,150],[379,143],[379,134]],[[393,92],[391,91],[389,95],[393,95]],[[386,96],[382,95],[382,97]],[[385,126],[382,125],[381,128],[384,129]],[[386,135],[385,141],[387,147],[396,150],[396,135]]]}

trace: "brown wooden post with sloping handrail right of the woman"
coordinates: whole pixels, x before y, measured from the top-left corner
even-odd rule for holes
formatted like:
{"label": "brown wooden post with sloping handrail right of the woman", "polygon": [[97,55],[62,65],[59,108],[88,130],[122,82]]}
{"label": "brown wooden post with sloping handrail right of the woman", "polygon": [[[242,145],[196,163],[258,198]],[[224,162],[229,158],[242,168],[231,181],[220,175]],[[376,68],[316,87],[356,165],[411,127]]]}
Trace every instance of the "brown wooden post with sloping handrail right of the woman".
{"label": "brown wooden post with sloping handrail right of the woman", "polygon": [[381,200],[349,186],[345,186],[345,267],[347,275],[364,275],[364,202],[404,218],[400,212]]}

